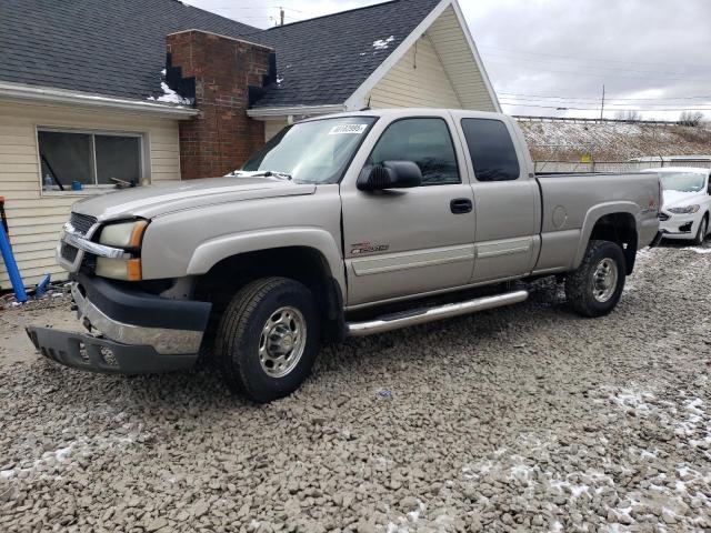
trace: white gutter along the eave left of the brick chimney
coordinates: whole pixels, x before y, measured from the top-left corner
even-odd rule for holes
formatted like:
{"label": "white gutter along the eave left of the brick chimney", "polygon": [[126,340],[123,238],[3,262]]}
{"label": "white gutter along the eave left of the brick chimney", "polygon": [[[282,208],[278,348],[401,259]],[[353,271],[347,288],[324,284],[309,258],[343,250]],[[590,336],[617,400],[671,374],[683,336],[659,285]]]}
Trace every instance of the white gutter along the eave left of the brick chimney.
{"label": "white gutter along the eave left of the brick chimney", "polygon": [[198,114],[198,110],[186,105],[171,105],[151,101],[106,97],[88,92],[68,91],[50,87],[34,87],[0,81],[0,99],[19,102],[81,105],[117,111],[139,111],[160,114],[178,120],[187,120]]}

